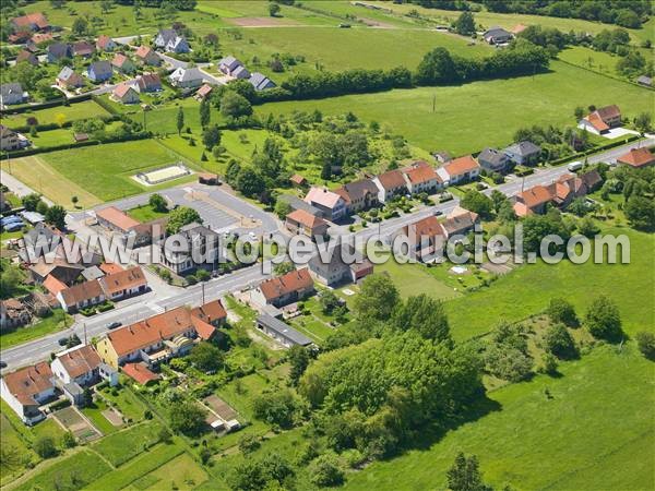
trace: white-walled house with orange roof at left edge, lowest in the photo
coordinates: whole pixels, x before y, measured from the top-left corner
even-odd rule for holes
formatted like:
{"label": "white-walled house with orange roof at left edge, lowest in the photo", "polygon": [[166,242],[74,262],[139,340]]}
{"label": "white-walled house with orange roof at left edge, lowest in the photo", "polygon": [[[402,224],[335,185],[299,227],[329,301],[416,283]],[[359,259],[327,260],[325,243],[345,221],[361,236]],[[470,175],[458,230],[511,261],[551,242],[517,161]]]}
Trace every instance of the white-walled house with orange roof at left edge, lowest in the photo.
{"label": "white-walled house with orange roof at left edge, lowest in the photo", "polygon": [[8,373],[0,380],[0,395],[25,424],[45,419],[39,407],[55,396],[50,366],[41,361]]}

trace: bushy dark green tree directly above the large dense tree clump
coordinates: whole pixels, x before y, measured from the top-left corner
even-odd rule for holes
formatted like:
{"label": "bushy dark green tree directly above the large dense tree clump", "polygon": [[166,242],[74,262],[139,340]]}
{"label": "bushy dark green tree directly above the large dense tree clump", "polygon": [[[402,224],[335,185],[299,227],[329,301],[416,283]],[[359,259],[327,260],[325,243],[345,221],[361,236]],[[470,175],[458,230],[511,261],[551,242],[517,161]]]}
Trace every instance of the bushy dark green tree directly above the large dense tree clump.
{"label": "bushy dark green tree directly above the large dense tree clump", "polygon": [[409,297],[393,312],[392,325],[398,331],[416,330],[426,339],[450,339],[448,318],[443,304],[426,294]]}

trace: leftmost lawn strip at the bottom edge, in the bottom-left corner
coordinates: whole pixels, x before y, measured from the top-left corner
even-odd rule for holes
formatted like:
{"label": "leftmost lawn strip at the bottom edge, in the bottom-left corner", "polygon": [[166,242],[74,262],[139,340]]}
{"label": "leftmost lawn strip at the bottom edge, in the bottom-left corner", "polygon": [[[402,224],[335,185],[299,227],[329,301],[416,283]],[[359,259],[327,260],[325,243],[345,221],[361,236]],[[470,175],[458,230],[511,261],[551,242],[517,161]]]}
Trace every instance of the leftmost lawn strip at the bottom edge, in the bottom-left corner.
{"label": "leftmost lawn strip at the bottom edge, in the bottom-left corner", "polygon": [[76,491],[100,476],[110,472],[111,468],[98,455],[88,450],[81,450],[44,469],[24,481],[16,491]]}

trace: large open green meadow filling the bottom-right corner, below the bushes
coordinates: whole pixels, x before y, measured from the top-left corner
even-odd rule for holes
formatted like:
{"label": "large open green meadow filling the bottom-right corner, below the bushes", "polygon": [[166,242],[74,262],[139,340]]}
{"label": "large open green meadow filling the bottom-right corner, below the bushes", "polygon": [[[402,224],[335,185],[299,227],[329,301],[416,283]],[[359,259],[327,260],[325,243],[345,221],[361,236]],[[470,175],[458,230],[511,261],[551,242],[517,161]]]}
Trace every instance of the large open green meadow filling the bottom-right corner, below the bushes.
{"label": "large open green meadow filling the bottom-right corner, below the bushes", "polygon": [[560,372],[489,393],[488,414],[353,474],[345,489],[443,489],[457,452],[477,455],[496,489],[652,489],[652,362],[633,345],[604,346]]}

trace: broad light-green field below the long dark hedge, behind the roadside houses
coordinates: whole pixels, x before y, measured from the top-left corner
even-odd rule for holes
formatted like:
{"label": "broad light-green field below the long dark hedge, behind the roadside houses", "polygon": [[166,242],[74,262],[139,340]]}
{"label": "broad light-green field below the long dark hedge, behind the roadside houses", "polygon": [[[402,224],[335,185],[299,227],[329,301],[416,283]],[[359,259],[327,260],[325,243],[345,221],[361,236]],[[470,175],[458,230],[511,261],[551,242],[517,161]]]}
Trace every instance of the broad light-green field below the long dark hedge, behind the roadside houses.
{"label": "broad light-green field below the long dark hedge, behind the roadside houses", "polygon": [[390,125],[413,145],[462,155],[485,146],[507,145],[521,127],[574,125],[576,106],[618,104],[627,117],[654,107],[655,94],[645,88],[559,61],[553,61],[551,69],[534,77],[273,103],[258,107],[257,111],[260,115],[313,109],[325,115],[353,111],[366,121]]}

